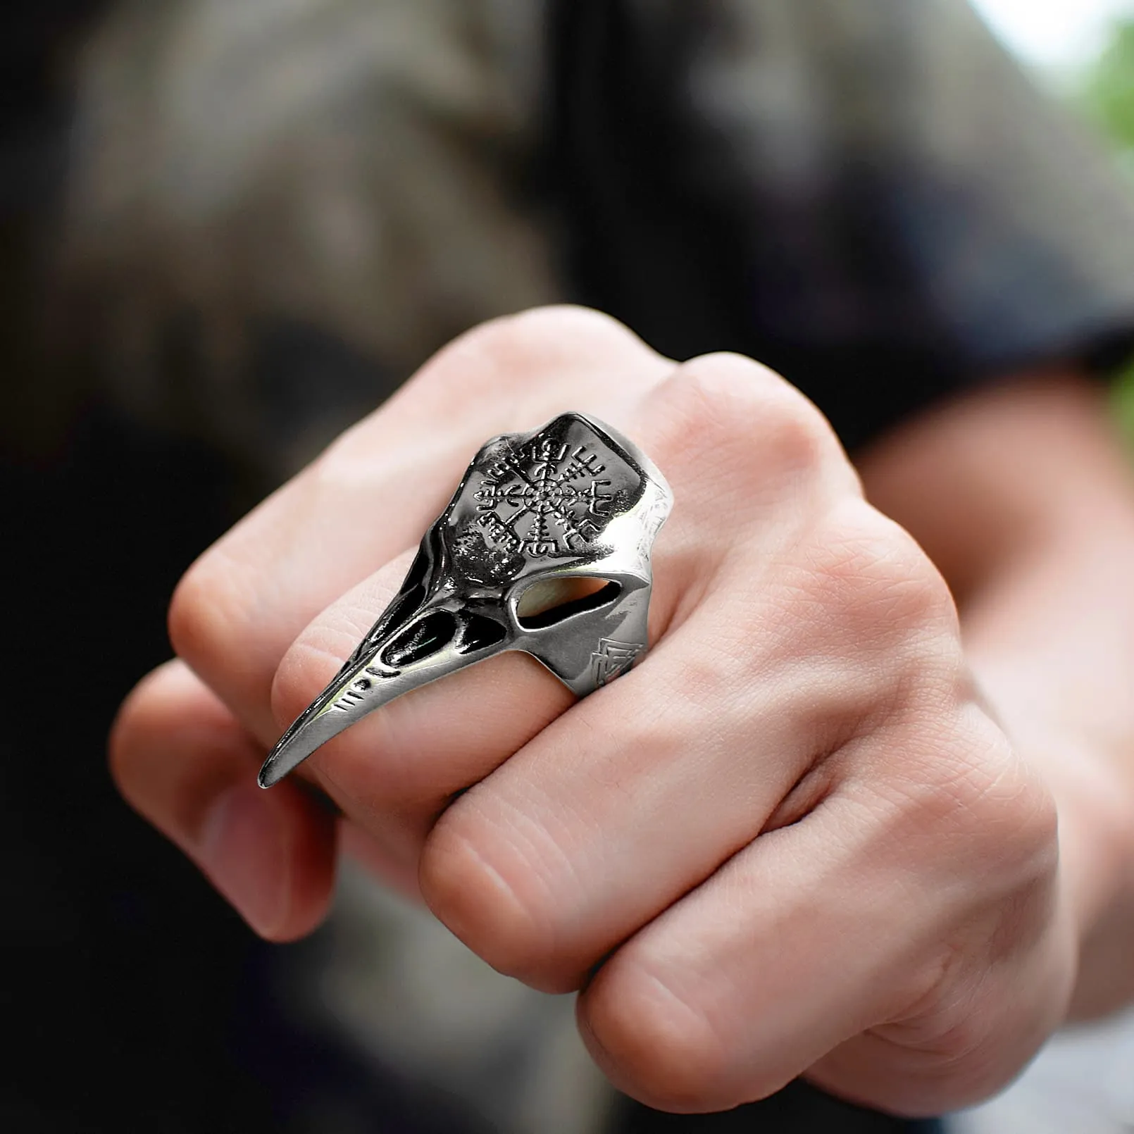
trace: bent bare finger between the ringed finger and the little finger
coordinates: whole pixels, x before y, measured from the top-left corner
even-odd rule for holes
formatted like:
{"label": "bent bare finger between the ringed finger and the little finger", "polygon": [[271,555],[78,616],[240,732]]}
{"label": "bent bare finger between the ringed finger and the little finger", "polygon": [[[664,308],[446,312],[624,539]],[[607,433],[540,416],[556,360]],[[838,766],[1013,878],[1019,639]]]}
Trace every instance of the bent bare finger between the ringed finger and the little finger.
{"label": "bent bare finger between the ringed finger and the little finger", "polygon": [[832,753],[913,668],[887,585],[903,572],[891,528],[852,498],[729,557],[636,670],[446,811],[422,861],[434,913],[494,967],[577,988],[744,846],[807,814]]}

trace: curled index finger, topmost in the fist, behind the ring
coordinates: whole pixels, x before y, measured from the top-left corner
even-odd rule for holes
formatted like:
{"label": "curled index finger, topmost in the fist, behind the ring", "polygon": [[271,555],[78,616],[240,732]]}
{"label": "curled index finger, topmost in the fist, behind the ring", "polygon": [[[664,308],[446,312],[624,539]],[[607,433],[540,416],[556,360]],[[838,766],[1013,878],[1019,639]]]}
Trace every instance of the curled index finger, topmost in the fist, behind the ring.
{"label": "curled index finger, topmost in the fist, behind the ring", "polygon": [[550,308],[456,340],[186,574],[175,651],[263,743],[271,686],[320,610],[420,540],[489,437],[565,409],[618,417],[671,364],[613,320]]}

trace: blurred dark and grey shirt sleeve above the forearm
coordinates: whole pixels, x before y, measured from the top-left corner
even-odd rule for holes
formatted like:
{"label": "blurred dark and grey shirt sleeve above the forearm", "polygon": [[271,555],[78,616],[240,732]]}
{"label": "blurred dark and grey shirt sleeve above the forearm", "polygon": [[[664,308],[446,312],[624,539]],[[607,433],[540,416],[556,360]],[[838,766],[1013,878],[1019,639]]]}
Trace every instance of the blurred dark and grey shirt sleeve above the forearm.
{"label": "blurred dark and grey shirt sleeve above the forearm", "polygon": [[560,0],[552,175],[584,302],[778,370],[856,448],[1134,330],[1134,208],[958,0]]}

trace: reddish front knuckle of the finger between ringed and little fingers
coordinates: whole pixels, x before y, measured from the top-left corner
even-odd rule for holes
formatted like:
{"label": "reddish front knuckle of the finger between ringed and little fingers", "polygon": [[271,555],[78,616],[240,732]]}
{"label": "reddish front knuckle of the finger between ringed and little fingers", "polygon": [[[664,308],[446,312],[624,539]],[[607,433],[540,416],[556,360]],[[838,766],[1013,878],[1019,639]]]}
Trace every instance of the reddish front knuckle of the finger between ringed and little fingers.
{"label": "reddish front knuckle of the finger between ringed and little fingers", "polygon": [[418,885],[435,916],[498,972],[545,992],[578,987],[557,963],[552,904],[539,873],[491,830],[450,809],[425,840]]}

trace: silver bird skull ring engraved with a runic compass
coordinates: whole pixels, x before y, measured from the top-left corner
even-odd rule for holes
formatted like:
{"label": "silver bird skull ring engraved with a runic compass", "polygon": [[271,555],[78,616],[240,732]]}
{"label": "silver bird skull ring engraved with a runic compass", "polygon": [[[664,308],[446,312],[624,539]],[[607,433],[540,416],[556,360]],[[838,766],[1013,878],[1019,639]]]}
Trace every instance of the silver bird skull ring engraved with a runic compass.
{"label": "silver bird skull ring engraved with a runic compass", "polygon": [[260,770],[271,787],[382,705],[505,650],[583,696],[645,652],[650,551],[674,498],[615,430],[583,414],[493,438],[425,533],[409,574]]}

